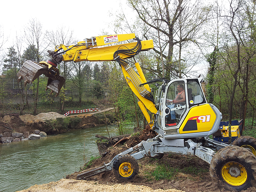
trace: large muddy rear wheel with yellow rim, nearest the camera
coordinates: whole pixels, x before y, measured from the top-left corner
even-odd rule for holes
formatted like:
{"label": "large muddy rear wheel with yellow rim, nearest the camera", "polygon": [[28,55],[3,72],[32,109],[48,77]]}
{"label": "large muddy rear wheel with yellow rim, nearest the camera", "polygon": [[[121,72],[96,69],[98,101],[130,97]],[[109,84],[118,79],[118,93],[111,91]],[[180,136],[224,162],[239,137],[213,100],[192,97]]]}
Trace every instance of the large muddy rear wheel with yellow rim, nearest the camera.
{"label": "large muddy rear wheel with yellow rim, nearest the camera", "polygon": [[229,191],[245,190],[256,179],[256,158],[244,148],[225,147],[214,155],[210,174],[217,186]]}

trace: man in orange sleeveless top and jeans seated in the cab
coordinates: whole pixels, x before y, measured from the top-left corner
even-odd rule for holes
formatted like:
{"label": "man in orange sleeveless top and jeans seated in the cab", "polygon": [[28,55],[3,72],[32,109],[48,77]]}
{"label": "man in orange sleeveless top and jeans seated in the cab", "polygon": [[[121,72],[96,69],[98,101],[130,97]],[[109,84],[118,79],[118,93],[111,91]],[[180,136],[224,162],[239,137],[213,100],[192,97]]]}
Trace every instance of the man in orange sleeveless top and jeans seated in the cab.
{"label": "man in orange sleeveless top and jeans seated in the cab", "polygon": [[[177,91],[178,91],[178,95],[174,100],[169,100],[169,99],[166,100],[167,107],[169,107],[170,109],[174,108],[174,106],[177,104],[184,105],[186,103],[184,85],[179,84],[177,86]],[[171,103],[173,103],[173,104],[171,104]],[[171,115],[171,120],[176,119],[174,110],[170,111],[170,115]]]}

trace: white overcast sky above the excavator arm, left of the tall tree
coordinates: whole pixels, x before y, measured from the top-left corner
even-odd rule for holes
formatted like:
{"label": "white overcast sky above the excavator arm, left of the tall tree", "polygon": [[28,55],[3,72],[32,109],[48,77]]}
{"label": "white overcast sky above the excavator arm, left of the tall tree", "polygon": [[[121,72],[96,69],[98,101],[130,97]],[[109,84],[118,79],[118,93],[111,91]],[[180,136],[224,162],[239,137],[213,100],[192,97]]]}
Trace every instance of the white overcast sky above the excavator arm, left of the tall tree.
{"label": "white overcast sky above the excavator arm, left of the tall tree", "polygon": [[74,31],[74,37],[78,41],[101,35],[103,30],[113,33],[108,25],[116,17],[110,17],[109,12],[115,14],[120,9],[120,4],[123,5],[124,12],[131,13],[126,0],[4,0],[0,11],[0,26],[4,36],[8,37],[4,47],[13,45],[16,34],[23,34],[31,19],[39,21],[43,30],[55,31],[62,26],[69,28]]}

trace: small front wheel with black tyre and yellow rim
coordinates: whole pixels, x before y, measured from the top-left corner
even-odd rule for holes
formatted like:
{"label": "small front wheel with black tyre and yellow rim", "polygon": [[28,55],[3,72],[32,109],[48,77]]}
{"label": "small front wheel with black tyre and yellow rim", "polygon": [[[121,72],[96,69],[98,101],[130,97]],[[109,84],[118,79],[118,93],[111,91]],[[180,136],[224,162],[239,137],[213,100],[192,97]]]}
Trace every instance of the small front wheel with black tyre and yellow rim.
{"label": "small front wheel with black tyre and yellow rim", "polygon": [[134,157],[120,155],[113,164],[113,170],[119,181],[132,181],[139,172],[139,165]]}

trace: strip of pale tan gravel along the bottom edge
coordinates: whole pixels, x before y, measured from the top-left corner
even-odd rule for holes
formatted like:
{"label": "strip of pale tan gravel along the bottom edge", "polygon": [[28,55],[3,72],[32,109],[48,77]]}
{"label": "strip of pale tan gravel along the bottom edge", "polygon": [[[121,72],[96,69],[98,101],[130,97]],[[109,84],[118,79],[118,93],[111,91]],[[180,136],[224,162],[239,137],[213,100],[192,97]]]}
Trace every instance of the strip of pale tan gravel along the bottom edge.
{"label": "strip of pale tan gravel along the bottom edge", "polygon": [[48,184],[34,185],[19,192],[183,192],[177,189],[152,189],[143,185],[127,184],[99,184],[96,181],[61,179]]}

